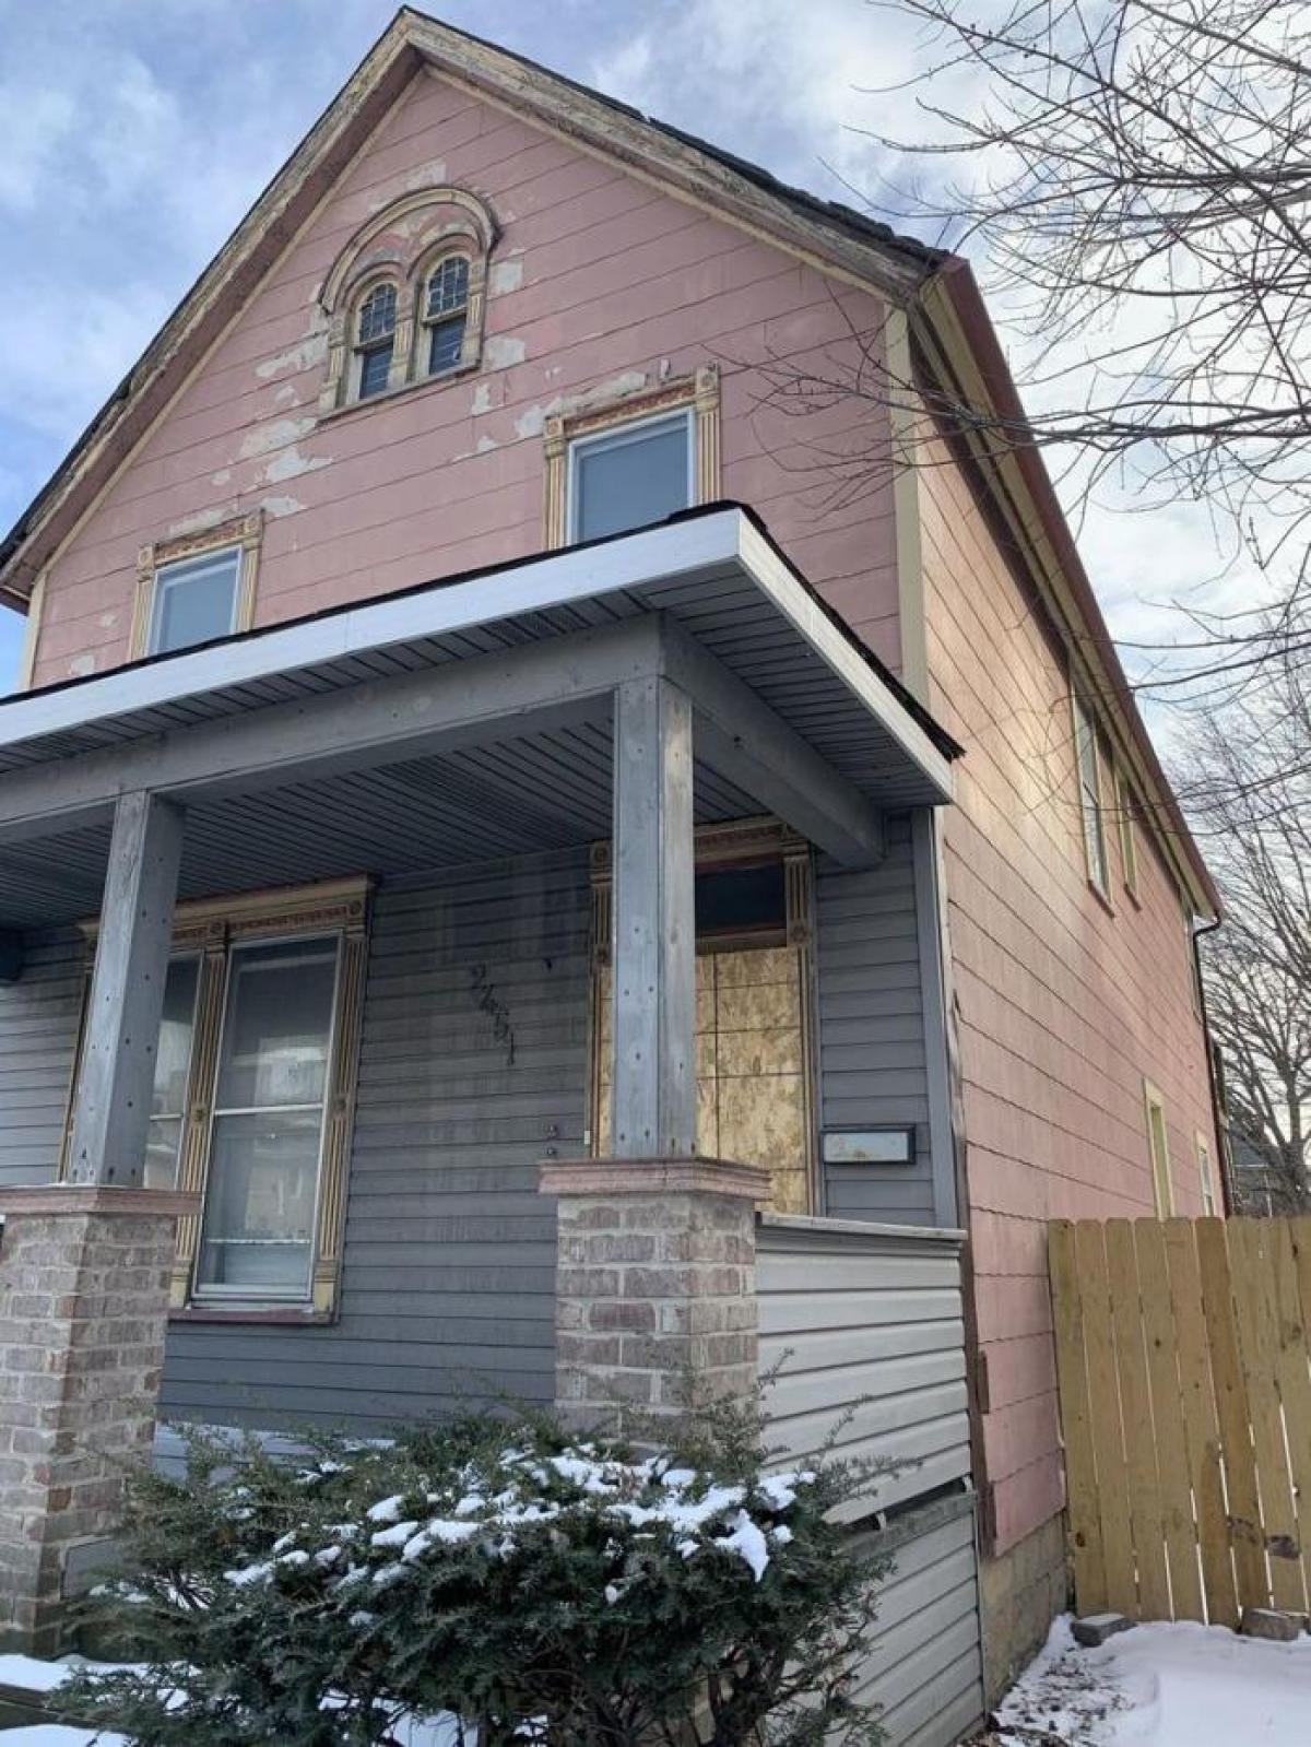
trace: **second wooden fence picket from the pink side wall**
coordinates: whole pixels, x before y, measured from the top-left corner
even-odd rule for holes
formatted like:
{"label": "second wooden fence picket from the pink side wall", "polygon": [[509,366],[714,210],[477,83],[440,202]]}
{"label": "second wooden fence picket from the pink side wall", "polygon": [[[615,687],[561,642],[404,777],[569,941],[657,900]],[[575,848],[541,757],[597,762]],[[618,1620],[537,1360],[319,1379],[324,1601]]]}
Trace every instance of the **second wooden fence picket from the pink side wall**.
{"label": "second wooden fence picket from the pink side wall", "polygon": [[1087,1398],[1092,1412],[1092,1447],[1101,1516],[1101,1557],[1106,1565],[1106,1605],[1138,1618],[1138,1581],[1129,1522],[1129,1467],[1124,1457],[1115,1342],[1110,1322],[1110,1279],[1103,1228],[1092,1219],[1075,1225],[1079,1295],[1084,1305]]}

